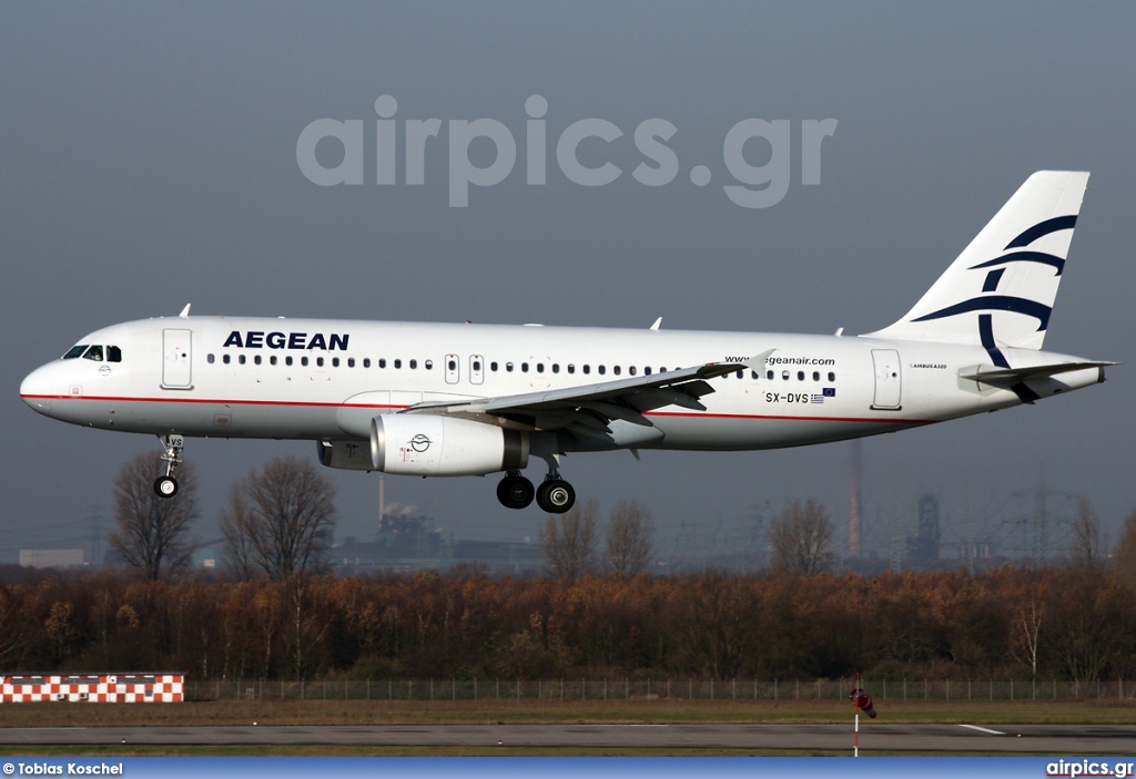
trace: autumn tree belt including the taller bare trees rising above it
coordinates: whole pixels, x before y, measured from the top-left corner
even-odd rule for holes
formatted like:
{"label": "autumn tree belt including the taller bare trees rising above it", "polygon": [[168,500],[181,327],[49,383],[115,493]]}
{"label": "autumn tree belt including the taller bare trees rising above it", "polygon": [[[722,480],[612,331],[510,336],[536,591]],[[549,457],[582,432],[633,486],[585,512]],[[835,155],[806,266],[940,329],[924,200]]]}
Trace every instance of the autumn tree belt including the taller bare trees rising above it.
{"label": "autumn tree belt including the taller bare trees rising above it", "polygon": [[[177,498],[149,505],[152,468],[128,464],[116,483],[115,532],[135,544],[136,565],[0,568],[0,670],[184,670],[197,679],[793,679],[858,670],[889,679],[1136,678],[1136,514],[1111,557],[1086,551],[1061,568],[861,577],[815,565],[829,553],[832,525],[805,501],[770,523],[770,544],[778,534],[786,541],[766,574],[651,576],[642,573],[649,513],[621,502],[601,526],[584,501],[548,518],[544,576],[334,577],[320,570],[333,493],[304,468],[274,462],[234,486],[222,517],[225,571],[203,575],[177,565],[187,542],[172,528],[195,511],[184,472]],[[134,482],[148,492],[130,489]],[[158,528],[148,534],[147,523]],[[291,543],[277,545],[290,534]]]}

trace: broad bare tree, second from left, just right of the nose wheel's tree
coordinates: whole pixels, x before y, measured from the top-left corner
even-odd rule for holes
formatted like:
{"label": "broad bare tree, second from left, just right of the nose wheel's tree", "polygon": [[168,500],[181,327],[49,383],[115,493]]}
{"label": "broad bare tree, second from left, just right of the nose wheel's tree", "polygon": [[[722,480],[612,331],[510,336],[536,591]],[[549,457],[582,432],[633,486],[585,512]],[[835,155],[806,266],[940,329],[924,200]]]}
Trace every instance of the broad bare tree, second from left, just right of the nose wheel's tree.
{"label": "broad bare tree, second from left, just right of the nose wheel's tree", "polygon": [[233,485],[219,525],[233,571],[277,581],[316,573],[335,527],[335,486],[311,463],[277,457]]}

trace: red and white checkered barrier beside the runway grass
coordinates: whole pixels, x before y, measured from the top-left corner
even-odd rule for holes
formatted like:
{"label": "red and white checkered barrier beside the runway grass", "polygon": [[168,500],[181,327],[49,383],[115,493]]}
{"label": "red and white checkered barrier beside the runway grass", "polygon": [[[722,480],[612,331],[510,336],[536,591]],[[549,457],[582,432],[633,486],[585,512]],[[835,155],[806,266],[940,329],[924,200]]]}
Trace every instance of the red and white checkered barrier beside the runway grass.
{"label": "red and white checkered barrier beside the runway grass", "polygon": [[22,674],[0,676],[0,703],[181,703],[184,674]]}

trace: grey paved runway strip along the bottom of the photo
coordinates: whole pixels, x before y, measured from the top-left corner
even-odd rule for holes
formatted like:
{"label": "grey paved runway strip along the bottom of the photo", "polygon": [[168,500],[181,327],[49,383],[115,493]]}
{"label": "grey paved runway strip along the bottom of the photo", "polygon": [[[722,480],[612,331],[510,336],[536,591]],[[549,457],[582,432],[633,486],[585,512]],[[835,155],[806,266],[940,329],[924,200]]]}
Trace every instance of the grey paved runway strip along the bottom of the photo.
{"label": "grey paved runway strip along the bottom of the photo", "polygon": [[[849,725],[440,725],[326,727],[2,728],[0,744],[299,745],[450,747],[852,748]],[[887,752],[1136,754],[1136,727],[861,722],[860,748]]]}

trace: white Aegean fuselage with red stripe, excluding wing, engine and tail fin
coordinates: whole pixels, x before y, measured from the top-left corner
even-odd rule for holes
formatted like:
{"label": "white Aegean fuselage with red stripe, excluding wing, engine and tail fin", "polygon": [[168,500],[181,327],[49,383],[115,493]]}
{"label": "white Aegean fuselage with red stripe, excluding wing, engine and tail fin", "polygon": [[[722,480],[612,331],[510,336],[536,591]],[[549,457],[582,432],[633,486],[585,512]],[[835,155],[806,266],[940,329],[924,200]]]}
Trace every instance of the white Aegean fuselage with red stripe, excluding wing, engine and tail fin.
{"label": "white Aegean fuselage with red stripe, excluding wing, engine and tail fin", "polygon": [[[989,365],[980,347],[861,337],[194,316],[118,324],[80,344],[117,347],[122,359],[44,365],[25,380],[24,400],[58,420],[136,433],[365,440],[376,414],[424,401],[743,362],[767,348],[776,352],[763,369],[710,381],[705,410],[646,412],[653,430],[641,429],[626,446],[793,447],[1021,403],[1009,390],[960,378]],[[1016,366],[1071,359],[1010,352],[1020,352]],[[1055,393],[1101,379],[1094,367],[1050,381]]]}

